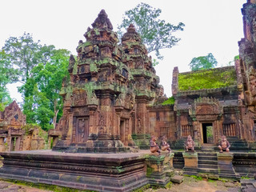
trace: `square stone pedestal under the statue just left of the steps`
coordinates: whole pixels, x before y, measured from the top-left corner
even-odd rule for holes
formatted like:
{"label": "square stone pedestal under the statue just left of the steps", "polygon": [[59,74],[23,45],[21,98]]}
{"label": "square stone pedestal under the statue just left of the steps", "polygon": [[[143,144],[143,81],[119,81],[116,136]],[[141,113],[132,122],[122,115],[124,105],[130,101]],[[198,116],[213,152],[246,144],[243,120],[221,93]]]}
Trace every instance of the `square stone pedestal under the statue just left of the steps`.
{"label": "square stone pedestal under the statue just left of the steps", "polygon": [[182,153],[184,158],[184,174],[197,175],[198,174],[198,153],[196,152],[184,152]]}

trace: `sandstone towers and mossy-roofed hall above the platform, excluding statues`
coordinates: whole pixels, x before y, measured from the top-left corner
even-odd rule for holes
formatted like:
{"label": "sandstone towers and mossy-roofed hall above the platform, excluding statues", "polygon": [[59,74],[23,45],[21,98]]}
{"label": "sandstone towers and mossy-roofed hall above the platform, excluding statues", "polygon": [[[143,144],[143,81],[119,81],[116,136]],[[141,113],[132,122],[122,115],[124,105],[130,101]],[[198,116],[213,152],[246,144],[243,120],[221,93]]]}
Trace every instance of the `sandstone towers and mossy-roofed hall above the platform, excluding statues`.
{"label": "sandstone towers and mossy-roofed hall above the platform, excluding statues", "polygon": [[64,113],[50,132],[54,150],[149,149],[152,135],[166,136],[174,148],[183,148],[188,135],[198,148],[216,146],[222,135],[241,146],[255,142],[255,2],[247,2],[242,14],[245,38],[238,42],[235,66],[186,73],[174,67],[175,102],[162,105],[167,98],[134,26],[118,44],[102,10],[84,34],[86,42],[78,42],[77,58],[70,56],[70,80],[60,93]]}

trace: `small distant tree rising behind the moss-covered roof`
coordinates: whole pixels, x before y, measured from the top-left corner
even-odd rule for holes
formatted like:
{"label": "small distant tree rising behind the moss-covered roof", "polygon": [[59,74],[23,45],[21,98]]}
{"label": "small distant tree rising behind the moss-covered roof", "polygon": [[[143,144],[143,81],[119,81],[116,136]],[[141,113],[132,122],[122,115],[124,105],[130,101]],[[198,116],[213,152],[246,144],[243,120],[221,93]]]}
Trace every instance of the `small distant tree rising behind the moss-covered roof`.
{"label": "small distant tree rising behind the moss-covered roof", "polygon": [[206,56],[200,56],[198,58],[192,58],[189,66],[191,70],[208,70],[217,66],[218,62],[214,58],[213,54],[207,54]]}

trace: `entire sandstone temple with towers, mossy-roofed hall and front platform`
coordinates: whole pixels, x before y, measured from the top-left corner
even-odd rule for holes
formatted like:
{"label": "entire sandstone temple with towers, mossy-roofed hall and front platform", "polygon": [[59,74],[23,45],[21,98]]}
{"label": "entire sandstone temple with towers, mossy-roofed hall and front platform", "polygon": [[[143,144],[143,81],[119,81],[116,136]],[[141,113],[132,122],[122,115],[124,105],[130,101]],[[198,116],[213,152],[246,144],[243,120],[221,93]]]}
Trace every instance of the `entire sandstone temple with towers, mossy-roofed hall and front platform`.
{"label": "entire sandstone temple with towers, mossy-roofed hall and front platform", "polygon": [[[185,73],[174,67],[173,97],[166,98],[134,26],[118,44],[102,10],[86,42],[78,42],[77,57],[70,55],[70,78],[60,92],[63,116],[49,132],[53,149],[1,152],[0,177],[94,191],[166,187],[182,182],[175,168],[210,179],[252,177],[255,0],[244,4],[242,15],[245,38],[235,65]],[[10,115],[10,125],[24,120],[17,115]]]}

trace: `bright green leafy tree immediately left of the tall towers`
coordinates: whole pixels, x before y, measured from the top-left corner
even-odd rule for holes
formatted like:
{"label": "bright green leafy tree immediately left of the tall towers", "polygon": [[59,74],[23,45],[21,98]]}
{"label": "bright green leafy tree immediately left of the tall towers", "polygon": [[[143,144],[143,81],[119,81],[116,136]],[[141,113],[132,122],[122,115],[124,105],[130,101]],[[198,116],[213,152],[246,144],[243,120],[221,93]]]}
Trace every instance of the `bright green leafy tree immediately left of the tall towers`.
{"label": "bright green leafy tree immediately left of the tall towers", "polygon": [[62,97],[58,94],[62,88],[62,79],[68,76],[68,50],[56,50],[54,46],[42,46],[43,57],[34,66],[31,78],[19,88],[24,97],[24,113],[27,122],[38,122],[43,130],[55,127],[62,115]]}

